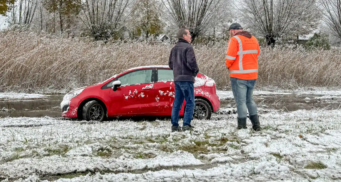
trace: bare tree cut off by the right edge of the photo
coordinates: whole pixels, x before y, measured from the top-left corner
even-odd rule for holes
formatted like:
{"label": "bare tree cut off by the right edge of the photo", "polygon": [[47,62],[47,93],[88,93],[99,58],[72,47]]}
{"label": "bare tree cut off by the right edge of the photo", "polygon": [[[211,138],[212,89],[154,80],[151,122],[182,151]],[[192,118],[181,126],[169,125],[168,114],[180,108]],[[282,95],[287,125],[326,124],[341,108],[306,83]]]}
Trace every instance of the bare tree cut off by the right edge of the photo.
{"label": "bare tree cut off by the right edge of the photo", "polygon": [[332,35],[341,39],[341,0],[326,0],[322,3],[323,21]]}

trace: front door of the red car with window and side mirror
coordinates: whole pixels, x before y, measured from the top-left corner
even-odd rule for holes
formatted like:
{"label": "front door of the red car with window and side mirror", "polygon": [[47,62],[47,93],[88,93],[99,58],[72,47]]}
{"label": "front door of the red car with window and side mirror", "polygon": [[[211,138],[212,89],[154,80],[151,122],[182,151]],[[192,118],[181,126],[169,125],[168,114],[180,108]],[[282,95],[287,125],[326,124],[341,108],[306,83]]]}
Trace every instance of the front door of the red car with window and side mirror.
{"label": "front door of the red car with window and side mirror", "polygon": [[154,112],[154,69],[131,71],[113,81],[116,80],[121,81],[121,87],[118,87],[116,91],[110,89],[109,93],[110,109],[113,115],[139,115]]}

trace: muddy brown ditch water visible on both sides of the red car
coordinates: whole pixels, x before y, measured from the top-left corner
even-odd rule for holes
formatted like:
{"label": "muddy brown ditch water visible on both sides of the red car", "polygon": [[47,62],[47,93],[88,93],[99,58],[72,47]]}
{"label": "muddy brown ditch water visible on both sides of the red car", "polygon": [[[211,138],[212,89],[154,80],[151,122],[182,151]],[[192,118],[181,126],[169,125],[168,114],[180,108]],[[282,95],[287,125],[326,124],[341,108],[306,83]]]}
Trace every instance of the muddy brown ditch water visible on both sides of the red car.
{"label": "muddy brown ditch water visible on both sides of the red car", "polygon": [[[60,103],[64,95],[50,95],[48,98],[31,100],[0,101],[0,118],[5,117],[61,117]],[[306,100],[306,98],[311,100]],[[299,109],[339,109],[341,101],[315,100],[316,95],[270,95],[254,96],[258,107],[279,109],[284,112]],[[236,107],[234,100],[221,101],[221,108]],[[227,114],[227,113],[226,113]]]}

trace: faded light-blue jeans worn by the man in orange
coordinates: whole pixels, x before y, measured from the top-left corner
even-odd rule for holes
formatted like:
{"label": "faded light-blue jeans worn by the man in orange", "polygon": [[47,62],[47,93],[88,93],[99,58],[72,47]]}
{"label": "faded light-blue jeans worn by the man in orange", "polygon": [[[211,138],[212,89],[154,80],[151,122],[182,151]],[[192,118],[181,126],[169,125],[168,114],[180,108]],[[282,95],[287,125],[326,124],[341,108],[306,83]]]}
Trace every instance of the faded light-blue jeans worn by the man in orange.
{"label": "faded light-blue jeans worn by the man in orange", "polygon": [[256,80],[242,80],[230,77],[233,97],[237,104],[238,118],[246,118],[249,115],[257,114],[257,106],[253,101],[253,89]]}

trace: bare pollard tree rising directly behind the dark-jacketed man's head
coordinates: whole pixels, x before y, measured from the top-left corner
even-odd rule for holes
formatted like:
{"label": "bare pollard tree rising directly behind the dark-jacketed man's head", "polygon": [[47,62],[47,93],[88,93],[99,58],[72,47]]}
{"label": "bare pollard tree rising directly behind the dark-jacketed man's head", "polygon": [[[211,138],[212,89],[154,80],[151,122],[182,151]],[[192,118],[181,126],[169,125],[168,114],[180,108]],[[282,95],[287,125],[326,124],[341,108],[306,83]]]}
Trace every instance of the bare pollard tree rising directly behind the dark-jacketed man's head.
{"label": "bare pollard tree rising directly behind the dark-jacketed man's head", "polygon": [[[192,42],[217,23],[226,0],[163,0],[168,20],[177,28],[188,28]],[[223,6],[225,4],[225,6]]]}

